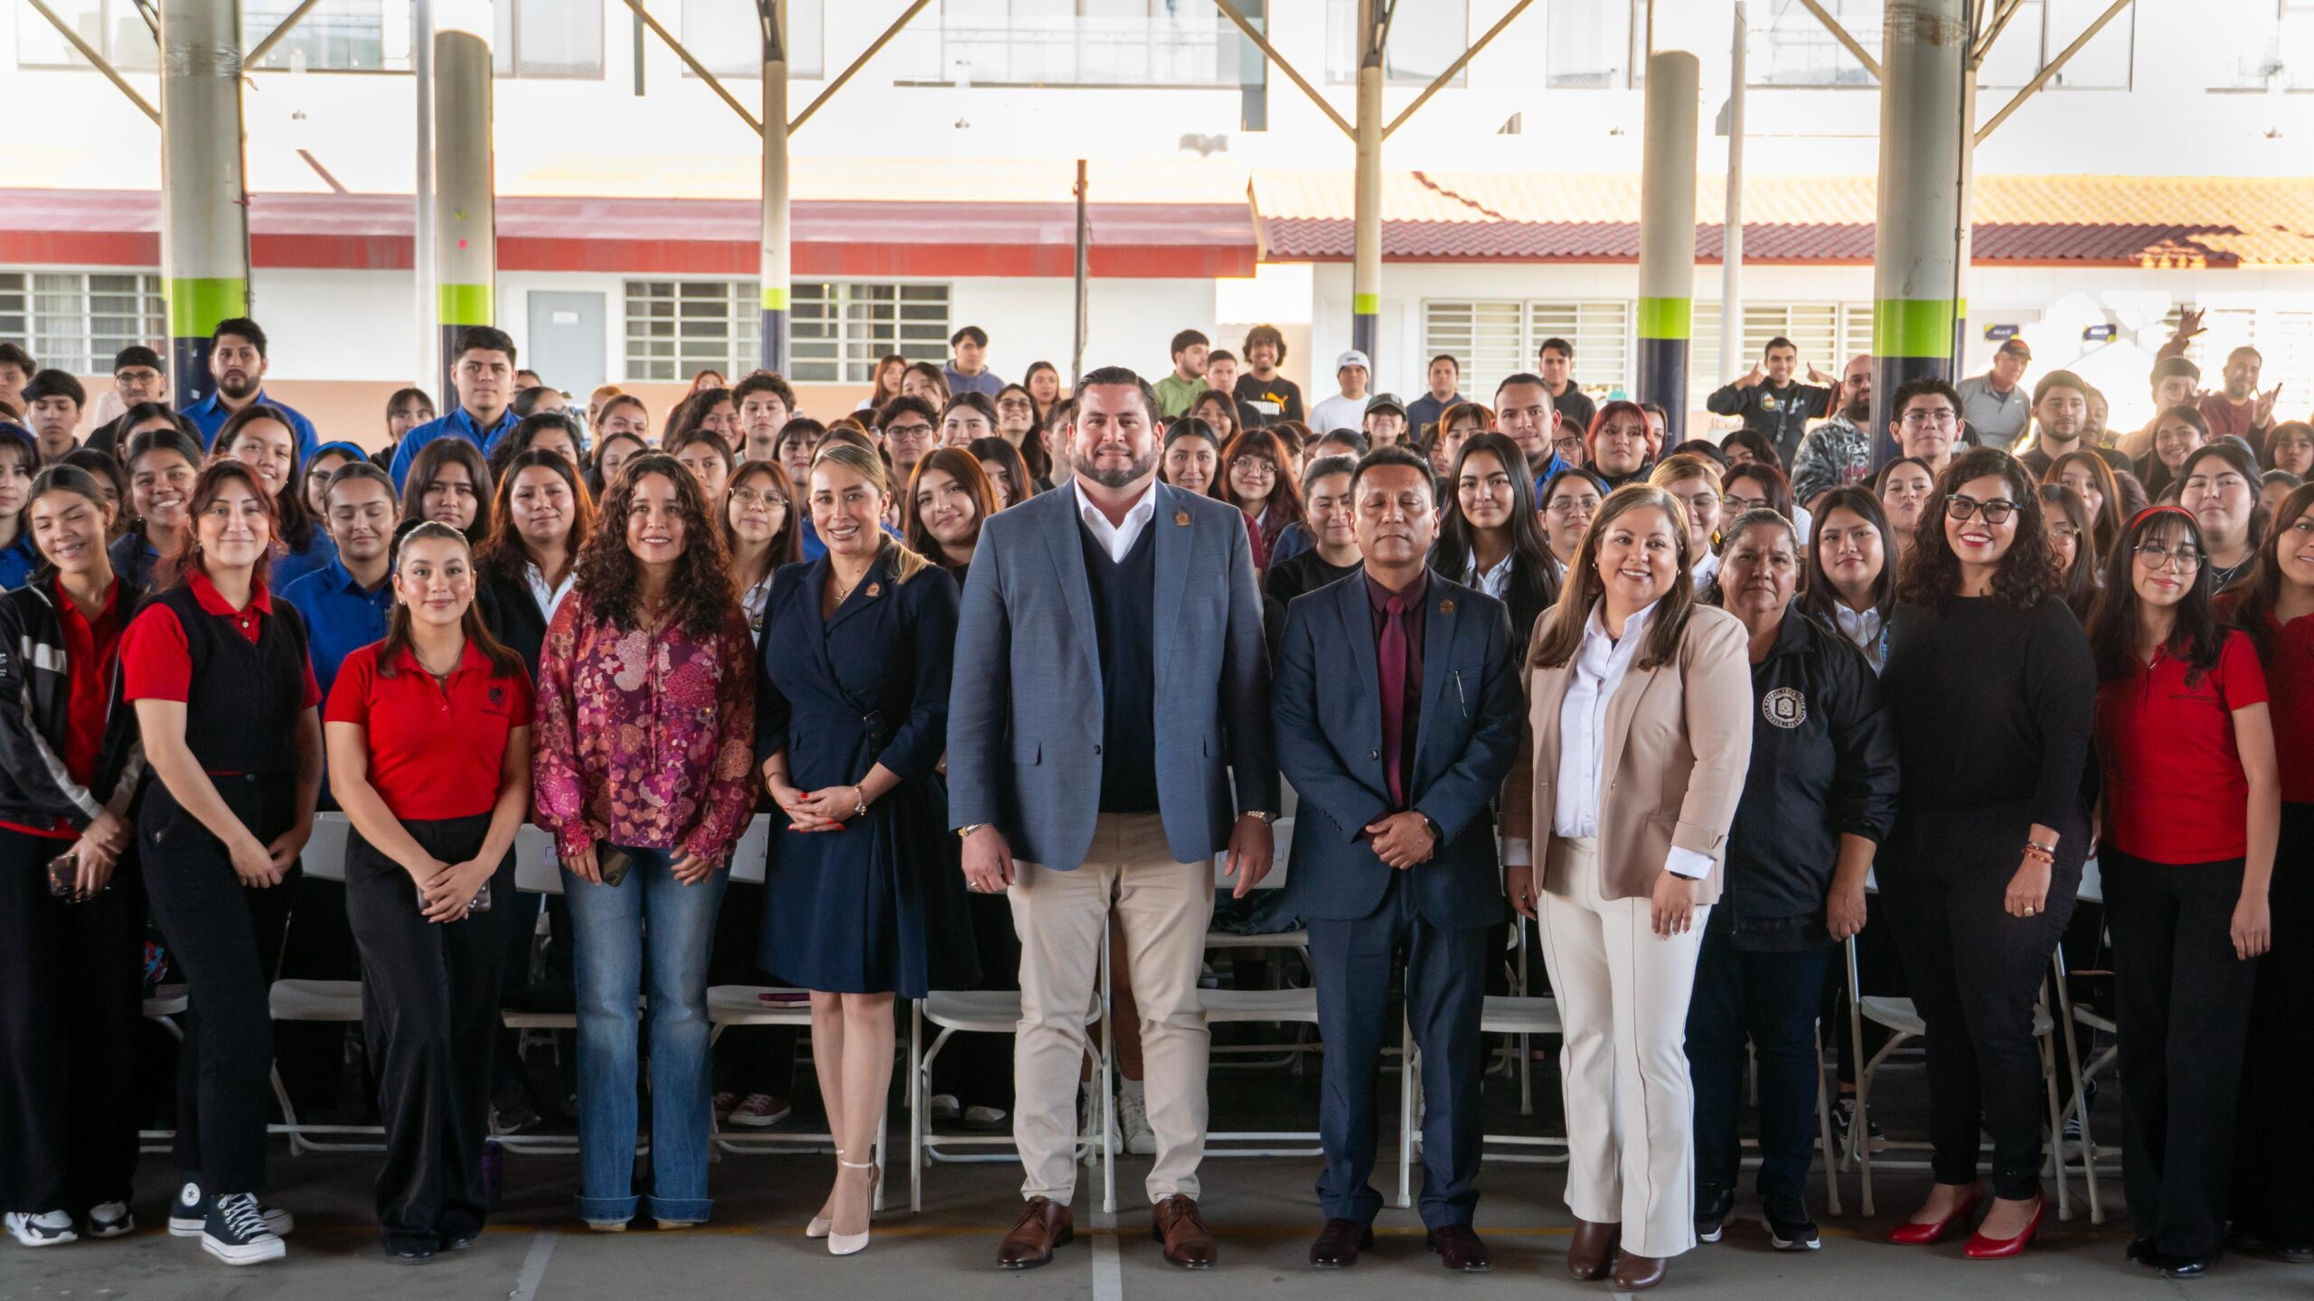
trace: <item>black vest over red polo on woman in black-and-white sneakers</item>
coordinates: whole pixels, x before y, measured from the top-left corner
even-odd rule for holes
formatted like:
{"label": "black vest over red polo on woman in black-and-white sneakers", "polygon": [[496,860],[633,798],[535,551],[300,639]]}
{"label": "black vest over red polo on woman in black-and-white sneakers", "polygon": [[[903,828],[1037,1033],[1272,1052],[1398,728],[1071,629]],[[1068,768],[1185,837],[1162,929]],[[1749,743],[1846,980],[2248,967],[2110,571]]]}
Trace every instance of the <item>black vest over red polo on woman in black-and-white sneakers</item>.
{"label": "black vest over red polo on woman in black-and-white sneakers", "polygon": [[176,611],[192,657],[185,748],[206,773],[296,776],[296,722],[305,708],[305,623],[285,600],[257,616],[257,644],[234,620],[201,609],[192,588],[157,604]]}

